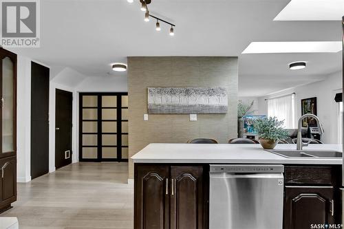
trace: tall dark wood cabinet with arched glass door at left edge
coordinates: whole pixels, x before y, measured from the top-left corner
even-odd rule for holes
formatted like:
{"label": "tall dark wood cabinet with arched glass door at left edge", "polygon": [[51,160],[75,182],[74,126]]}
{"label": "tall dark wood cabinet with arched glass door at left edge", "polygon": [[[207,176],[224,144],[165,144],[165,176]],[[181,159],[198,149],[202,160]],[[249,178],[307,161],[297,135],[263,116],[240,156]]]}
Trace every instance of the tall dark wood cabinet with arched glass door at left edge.
{"label": "tall dark wood cabinet with arched glass door at left edge", "polygon": [[17,55],[0,48],[0,212],[17,200]]}

